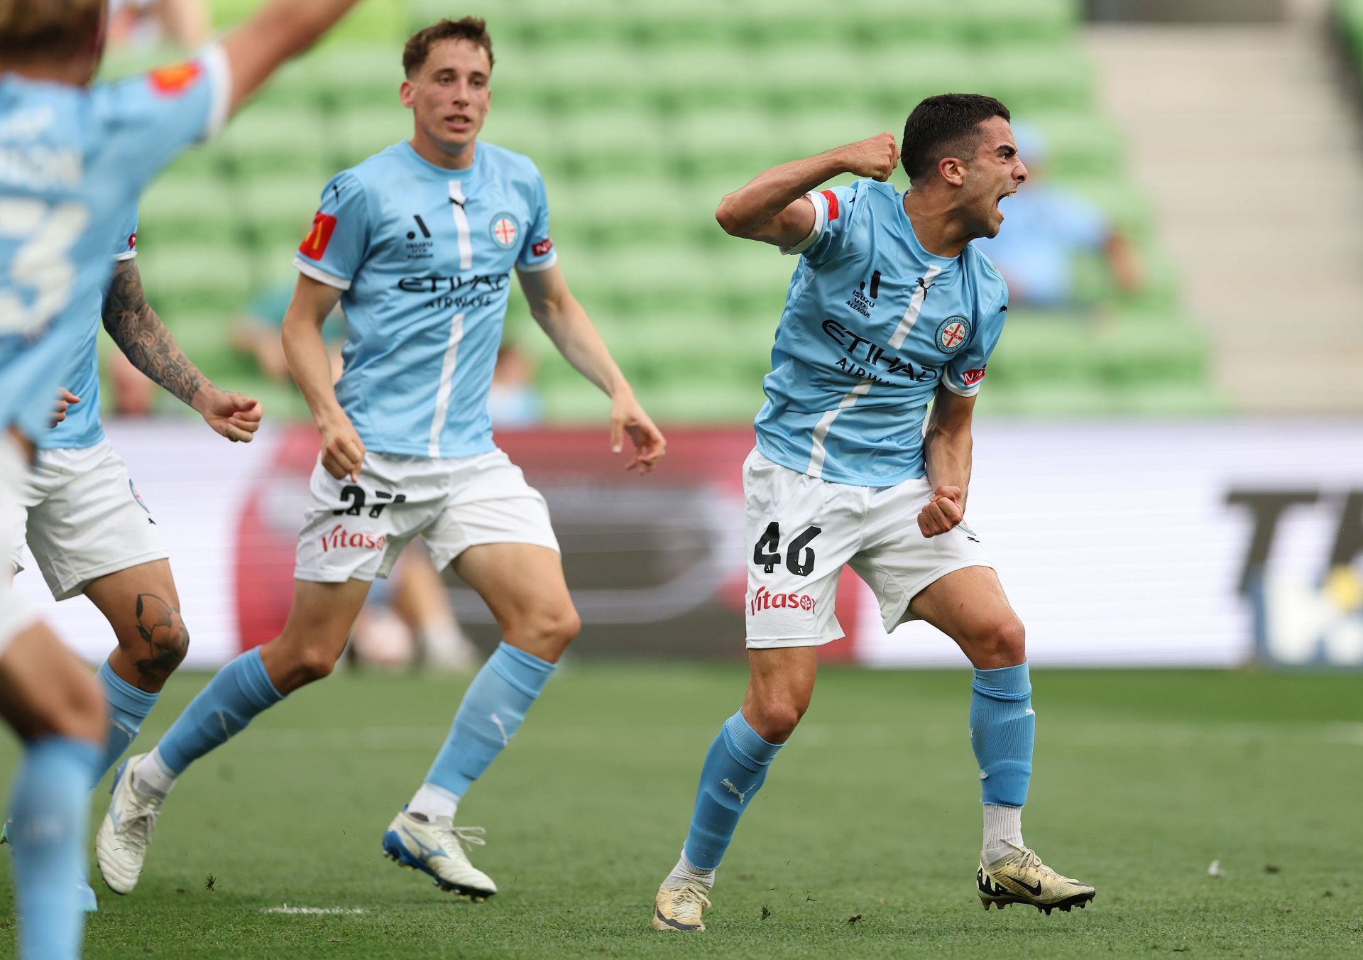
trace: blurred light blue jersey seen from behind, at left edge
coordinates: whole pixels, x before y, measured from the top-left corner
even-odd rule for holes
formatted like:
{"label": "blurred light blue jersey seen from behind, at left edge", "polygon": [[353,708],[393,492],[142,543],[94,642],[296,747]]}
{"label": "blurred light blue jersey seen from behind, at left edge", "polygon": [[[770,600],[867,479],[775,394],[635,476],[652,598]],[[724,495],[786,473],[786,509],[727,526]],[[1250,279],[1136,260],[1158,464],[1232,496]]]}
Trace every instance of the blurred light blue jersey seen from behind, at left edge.
{"label": "blurred light blue jersey seen from behind, at left edge", "polygon": [[229,102],[217,46],[89,89],[0,76],[0,428],[44,438],[57,387],[83,372],[128,206]]}

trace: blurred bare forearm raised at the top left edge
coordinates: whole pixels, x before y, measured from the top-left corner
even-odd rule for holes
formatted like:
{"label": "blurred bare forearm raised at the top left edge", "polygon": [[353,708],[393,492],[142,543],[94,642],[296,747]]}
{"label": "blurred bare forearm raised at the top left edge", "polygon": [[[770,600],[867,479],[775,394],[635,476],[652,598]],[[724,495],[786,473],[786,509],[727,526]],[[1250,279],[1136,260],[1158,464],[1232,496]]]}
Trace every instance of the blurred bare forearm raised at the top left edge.
{"label": "blurred bare forearm raised at the top left edge", "polygon": [[303,53],[358,0],[270,0],[245,23],[222,38],[232,68],[228,115],[260,87],[270,74]]}

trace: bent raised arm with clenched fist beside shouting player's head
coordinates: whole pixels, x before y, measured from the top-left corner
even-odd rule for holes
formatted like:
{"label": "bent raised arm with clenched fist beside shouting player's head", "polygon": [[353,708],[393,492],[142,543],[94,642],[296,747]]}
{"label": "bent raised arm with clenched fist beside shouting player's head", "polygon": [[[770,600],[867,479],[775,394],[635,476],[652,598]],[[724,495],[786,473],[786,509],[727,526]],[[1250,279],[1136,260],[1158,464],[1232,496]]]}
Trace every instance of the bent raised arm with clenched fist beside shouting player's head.
{"label": "bent raised arm with clenched fist beside shouting player's head", "polygon": [[889,180],[898,161],[900,147],[889,132],[792,160],[728,194],[714,218],[731,236],[793,247],[814,229],[814,205],[806,194],[841,173]]}

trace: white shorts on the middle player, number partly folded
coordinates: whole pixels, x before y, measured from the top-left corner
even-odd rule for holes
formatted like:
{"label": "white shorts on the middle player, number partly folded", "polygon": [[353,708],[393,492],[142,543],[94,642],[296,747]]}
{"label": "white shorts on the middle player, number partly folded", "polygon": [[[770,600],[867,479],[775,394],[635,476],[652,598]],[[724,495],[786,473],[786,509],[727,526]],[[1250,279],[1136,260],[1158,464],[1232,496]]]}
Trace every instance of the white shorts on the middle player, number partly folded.
{"label": "white shorts on the middle player, number partly folded", "polygon": [[544,496],[500,450],[461,458],[367,453],[358,483],[337,480],[318,458],[309,487],[297,580],[339,584],[387,577],[417,535],[436,570],[485,543],[559,550]]}

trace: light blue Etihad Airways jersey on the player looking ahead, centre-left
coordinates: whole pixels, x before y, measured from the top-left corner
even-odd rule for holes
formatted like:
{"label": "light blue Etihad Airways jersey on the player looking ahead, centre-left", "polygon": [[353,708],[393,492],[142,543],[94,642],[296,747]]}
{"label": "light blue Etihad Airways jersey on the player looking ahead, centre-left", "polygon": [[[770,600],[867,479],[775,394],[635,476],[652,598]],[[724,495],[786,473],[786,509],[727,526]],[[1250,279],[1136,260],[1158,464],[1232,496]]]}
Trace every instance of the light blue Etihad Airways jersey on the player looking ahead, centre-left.
{"label": "light blue Etihad Airways jersey on the player looking ahead, centre-left", "polygon": [[493,449],[488,389],[512,267],[547,270],[544,180],[478,143],[447,170],[402,142],[338,173],[294,266],[345,293],[337,400],[365,449],[473,457]]}

